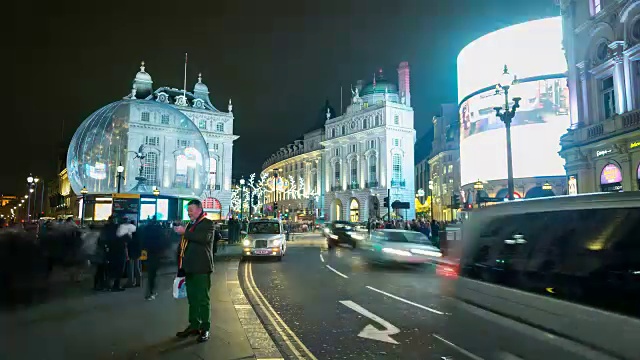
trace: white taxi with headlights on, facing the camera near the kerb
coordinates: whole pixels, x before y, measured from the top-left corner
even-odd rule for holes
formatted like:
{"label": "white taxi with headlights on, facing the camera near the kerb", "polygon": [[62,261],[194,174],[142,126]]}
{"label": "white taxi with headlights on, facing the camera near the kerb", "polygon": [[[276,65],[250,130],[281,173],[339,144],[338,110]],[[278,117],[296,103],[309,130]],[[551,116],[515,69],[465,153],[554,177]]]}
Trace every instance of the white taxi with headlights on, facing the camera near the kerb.
{"label": "white taxi with headlights on, facing the camera near the kerb", "polygon": [[252,256],[275,257],[282,261],[287,251],[287,240],[282,223],[278,220],[253,220],[249,222],[248,231],[242,241],[242,258]]}

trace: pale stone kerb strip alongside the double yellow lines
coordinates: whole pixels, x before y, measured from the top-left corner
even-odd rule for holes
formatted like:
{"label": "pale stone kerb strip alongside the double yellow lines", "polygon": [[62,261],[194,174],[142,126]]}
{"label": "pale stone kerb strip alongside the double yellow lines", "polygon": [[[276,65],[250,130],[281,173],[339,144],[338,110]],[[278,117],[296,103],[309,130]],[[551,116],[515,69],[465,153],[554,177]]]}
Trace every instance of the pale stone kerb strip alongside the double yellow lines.
{"label": "pale stone kerb strip alongside the double yellow lines", "polygon": [[245,335],[247,336],[247,340],[249,340],[249,344],[253,350],[254,358],[263,360],[284,359],[242,291],[240,280],[238,278],[239,267],[239,259],[228,262],[225,269],[227,290],[229,291],[231,302],[233,303],[238,318],[240,319],[240,324],[242,325]]}

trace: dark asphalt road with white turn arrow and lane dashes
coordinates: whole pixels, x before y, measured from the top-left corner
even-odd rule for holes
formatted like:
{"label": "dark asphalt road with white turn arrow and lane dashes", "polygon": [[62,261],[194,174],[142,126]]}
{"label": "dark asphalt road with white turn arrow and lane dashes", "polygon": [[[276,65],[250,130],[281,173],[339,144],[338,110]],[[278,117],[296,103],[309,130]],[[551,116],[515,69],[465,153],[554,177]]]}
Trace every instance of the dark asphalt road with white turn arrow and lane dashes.
{"label": "dark asphalt road with white turn arrow and lane dashes", "polygon": [[318,236],[240,271],[317,359],[467,359],[433,336],[447,314],[431,266],[371,267],[363,250],[328,251]]}

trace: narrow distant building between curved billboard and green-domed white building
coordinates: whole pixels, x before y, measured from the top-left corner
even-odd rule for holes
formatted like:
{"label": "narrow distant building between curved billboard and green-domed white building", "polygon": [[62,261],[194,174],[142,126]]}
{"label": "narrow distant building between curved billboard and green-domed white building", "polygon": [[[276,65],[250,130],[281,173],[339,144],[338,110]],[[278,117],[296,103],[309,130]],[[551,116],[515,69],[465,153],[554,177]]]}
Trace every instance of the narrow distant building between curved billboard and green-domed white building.
{"label": "narrow distant building between curved billboard and green-domed white building", "polygon": [[460,133],[458,107],[442,105],[440,116],[433,117],[433,150],[429,158],[433,219],[456,219],[458,209],[452,207],[453,195],[460,194]]}

